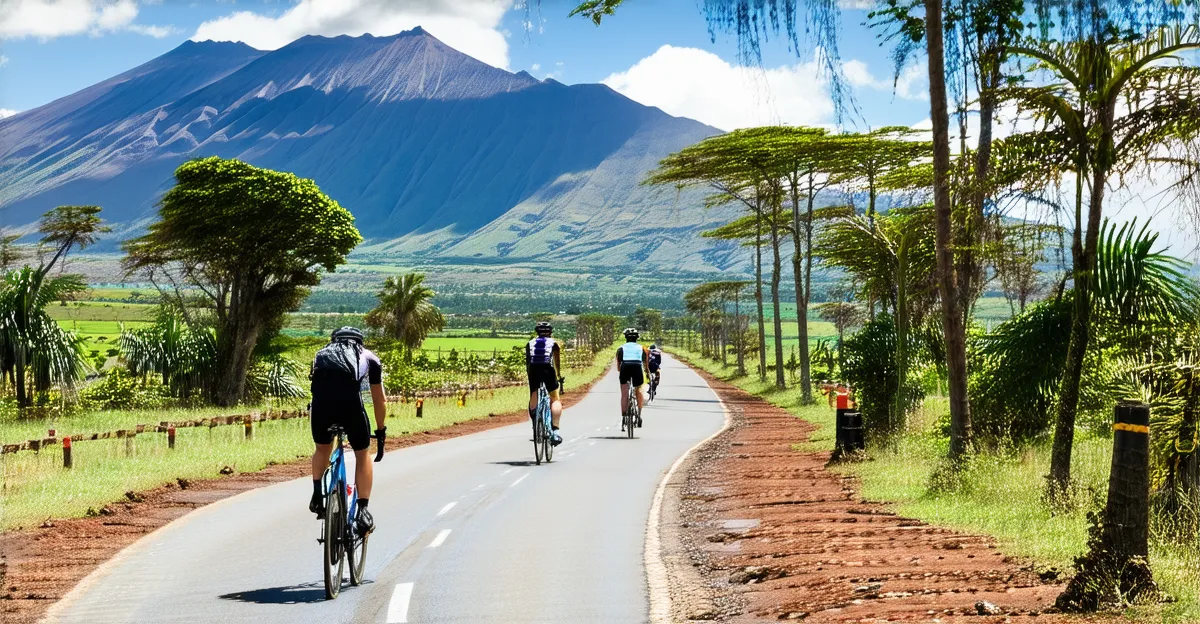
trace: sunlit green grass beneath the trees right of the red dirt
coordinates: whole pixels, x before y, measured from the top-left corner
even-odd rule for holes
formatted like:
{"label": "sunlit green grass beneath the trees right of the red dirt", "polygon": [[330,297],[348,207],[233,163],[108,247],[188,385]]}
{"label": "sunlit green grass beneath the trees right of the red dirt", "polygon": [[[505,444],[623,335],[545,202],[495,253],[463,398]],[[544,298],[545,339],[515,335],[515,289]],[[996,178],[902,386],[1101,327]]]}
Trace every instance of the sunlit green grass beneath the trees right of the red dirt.
{"label": "sunlit green grass beneath the trees right of the red dirt", "polygon": [[[802,406],[793,388],[779,391],[754,374],[736,378],[736,371],[720,362],[695,353],[677,353],[694,366],[816,424],[817,431],[809,442],[798,443],[798,450],[833,449],[834,412],[823,400],[816,406]],[[1042,499],[1050,467],[1049,443],[1020,451],[982,452],[966,472],[947,476],[947,443],[931,433],[932,424],[947,409],[944,398],[926,398],[905,436],[887,448],[869,449],[871,461],[846,464],[841,470],[859,478],[864,498],[890,503],[900,515],[991,535],[1008,554],[1070,572],[1073,558],[1086,550],[1086,512],[1099,509],[1108,492],[1111,440],[1092,436],[1076,439],[1072,454],[1075,508],[1055,510]],[[1139,607],[1129,617],[1135,622],[1200,622],[1200,546],[1152,541],[1151,563],[1156,580],[1177,602]]]}

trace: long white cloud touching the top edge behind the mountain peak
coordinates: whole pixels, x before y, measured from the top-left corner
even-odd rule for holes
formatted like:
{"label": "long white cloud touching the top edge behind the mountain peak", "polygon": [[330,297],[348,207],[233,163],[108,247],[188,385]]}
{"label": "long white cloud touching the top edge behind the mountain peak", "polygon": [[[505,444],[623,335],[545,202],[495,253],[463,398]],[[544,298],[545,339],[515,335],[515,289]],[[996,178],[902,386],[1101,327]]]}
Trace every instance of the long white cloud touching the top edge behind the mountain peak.
{"label": "long white cloud touching the top edge behind the mountain peak", "polygon": [[205,22],[196,41],[241,41],[277,49],[305,35],[395,35],[421,26],[452,48],[497,67],[509,65],[500,19],[512,0],[299,0],[277,17],[238,11]]}

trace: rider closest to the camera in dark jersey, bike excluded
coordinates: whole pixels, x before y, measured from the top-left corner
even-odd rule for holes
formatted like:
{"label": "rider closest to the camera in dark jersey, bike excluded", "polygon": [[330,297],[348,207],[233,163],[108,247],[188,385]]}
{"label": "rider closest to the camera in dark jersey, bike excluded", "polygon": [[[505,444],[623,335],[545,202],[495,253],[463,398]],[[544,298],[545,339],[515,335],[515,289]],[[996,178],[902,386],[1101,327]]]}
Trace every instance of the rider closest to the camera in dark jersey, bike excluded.
{"label": "rider closest to the camera in dark jersey, bike excluded", "polygon": [[[348,389],[341,385],[329,385],[313,378],[312,404],[310,406],[310,422],[312,425],[312,440],[317,450],[312,454],[312,500],[308,510],[318,516],[324,515],[324,496],[322,492],[320,476],[329,466],[329,456],[334,452],[334,437],[329,432],[331,425],[340,424],[346,430],[346,438],[354,449],[354,486],[359,491],[358,523],[362,534],[374,530],[374,518],[367,511],[367,502],[371,498],[371,486],[374,479],[372,462],[368,449],[371,438],[379,440],[380,448],[386,439],[388,427],[384,421],[388,418],[386,397],[383,392],[383,364],[376,354],[362,346],[362,331],[355,328],[341,328],[330,336],[330,342],[347,341],[355,346],[359,353],[359,388]],[[362,401],[365,391],[370,392],[371,409],[374,413],[376,431],[371,434],[371,422],[367,419],[366,406]]]}

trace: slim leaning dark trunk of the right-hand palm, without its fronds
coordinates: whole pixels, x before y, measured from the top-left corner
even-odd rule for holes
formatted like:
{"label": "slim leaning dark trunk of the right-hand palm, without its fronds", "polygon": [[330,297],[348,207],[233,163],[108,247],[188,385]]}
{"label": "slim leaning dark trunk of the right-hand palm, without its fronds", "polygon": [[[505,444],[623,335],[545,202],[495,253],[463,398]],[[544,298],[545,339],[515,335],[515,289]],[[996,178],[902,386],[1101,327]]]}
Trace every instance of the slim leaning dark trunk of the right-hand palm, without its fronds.
{"label": "slim leaning dark trunk of the right-hand palm, without its fronds", "polygon": [[[1111,126],[1108,126],[1111,127]],[[1100,138],[1104,140],[1104,137]],[[1096,247],[1100,238],[1100,215],[1104,210],[1104,184],[1108,180],[1103,166],[1093,166],[1091,197],[1087,205],[1087,232],[1084,248],[1079,250],[1079,220],[1075,221],[1074,256],[1075,313],[1070,320],[1070,343],[1067,347],[1067,365],[1063,368],[1062,386],[1058,391],[1058,421],[1054,428],[1054,448],[1050,455],[1051,496],[1061,494],[1070,485],[1070,454],[1075,443],[1075,414],[1079,410],[1079,386],[1084,376],[1084,360],[1092,337],[1092,276],[1096,272]],[[1082,179],[1080,169],[1078,174]],[[1076,196],[1081,187],[1076,187]],[[1076,215],[1082,197],[1076,203]],[[1081,215],[1080,215],[1081,216]]]}

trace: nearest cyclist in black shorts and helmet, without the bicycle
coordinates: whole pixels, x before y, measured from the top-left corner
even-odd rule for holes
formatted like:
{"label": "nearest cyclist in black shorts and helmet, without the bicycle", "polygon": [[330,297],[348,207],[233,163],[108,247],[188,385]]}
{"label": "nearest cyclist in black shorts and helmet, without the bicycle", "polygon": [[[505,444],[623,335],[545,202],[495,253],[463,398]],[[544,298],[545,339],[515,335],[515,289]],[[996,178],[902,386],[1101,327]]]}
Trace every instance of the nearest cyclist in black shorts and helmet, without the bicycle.
{"label": "nearest cyclist in black shorts and helmet, without the bicycle", "polygon": [[[374,530],[374,518],[367,511],[374,479],[368,449],[372,437],[383,449],[388,436],[388,427],[384,426],[388,404],[383,394],[383,365],[376,354],[362,346],[362,331],[341,328],[330,336],[329,344],[317,352],[308,378],[312,379],[312,440],[317,444],[317,450],[312,454],[312,500],[308,503],[308,511],[318,517],[325,514],[320,476],[334,452],[334,436],[329,427],[338,424],[346,430],[346,437],[354,449],[354,485],[359,497],[359,511],[354,521],[359,534],[366,535]],[[368,388],[374,412],[374,436],[371,434],[371,422],[362,401],[362,391]]]}

